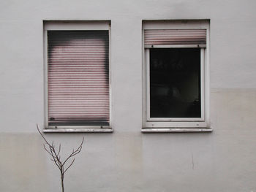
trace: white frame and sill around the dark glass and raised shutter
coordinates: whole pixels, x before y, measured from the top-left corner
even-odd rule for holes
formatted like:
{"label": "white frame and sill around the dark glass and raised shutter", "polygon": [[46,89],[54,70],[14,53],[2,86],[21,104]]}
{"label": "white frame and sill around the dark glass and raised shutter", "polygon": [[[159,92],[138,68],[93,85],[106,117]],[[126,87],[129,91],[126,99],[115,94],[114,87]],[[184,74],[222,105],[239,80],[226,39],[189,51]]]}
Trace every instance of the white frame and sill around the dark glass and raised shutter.
{"label": "white frame and sill around the dark glass and raised shutter", "polygon": [[[146,29],[206,29],[206,47],[197,45],[154,45],[154,48],[200,47],[201,118],[150,118],[150,47],[144,46]],[[143,132],[212,131],[209,116],[209,20],[143,21]]]}

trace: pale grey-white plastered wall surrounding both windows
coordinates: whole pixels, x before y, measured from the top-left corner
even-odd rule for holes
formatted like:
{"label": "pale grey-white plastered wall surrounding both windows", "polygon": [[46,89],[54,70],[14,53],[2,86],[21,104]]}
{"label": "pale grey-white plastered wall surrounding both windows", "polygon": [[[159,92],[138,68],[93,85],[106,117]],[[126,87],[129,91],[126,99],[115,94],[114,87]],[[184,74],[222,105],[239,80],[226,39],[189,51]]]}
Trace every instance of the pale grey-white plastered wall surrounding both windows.
{"label": "pale grey-white plastered wall surrounding both windows", "polygon": [[[0,191],[61,191],[42,149],[42,20],[111,20],[113,134],[86,142],[66,191],[256,191],[256,2],[0,1]],[[141,134],[142,20],[211,19],[211,134]],[[64,156],[63,155],[63,156]]]}

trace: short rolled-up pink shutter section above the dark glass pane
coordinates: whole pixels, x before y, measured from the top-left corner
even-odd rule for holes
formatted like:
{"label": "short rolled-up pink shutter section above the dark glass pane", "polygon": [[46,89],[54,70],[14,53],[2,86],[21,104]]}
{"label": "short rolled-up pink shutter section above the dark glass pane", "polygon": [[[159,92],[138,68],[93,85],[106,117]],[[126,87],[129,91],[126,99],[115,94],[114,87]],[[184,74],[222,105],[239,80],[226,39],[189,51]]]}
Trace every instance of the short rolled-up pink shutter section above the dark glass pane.
{"label": "short rolled-up pink shutter section above the dark glass pane", "polygon": [[148,29],[145,46],[151,45],[206,45],[206,29]]}

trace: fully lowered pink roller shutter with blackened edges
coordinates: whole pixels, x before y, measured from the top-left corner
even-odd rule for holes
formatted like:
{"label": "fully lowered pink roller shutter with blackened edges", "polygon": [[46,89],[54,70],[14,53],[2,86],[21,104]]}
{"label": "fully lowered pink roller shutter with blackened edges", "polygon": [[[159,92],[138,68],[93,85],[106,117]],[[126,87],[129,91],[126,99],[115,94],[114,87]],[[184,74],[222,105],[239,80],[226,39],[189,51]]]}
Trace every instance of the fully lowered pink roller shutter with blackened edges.
{"label": "fully lowered pink roller shutter with blackened edges", "polygon": [[49,126],[108,126],[108,31],[48,31]]}

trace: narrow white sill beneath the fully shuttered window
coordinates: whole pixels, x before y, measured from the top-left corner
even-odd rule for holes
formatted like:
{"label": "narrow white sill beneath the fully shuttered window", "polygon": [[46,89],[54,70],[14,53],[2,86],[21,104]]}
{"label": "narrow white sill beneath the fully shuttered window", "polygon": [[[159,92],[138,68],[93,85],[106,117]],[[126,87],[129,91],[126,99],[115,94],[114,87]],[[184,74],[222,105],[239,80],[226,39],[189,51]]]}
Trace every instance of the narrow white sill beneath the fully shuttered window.
{"label": "narrow white sill beneath the fully shuttered window", "polygon": [[112,133],[112,128],[44,128],[44,133]]}

